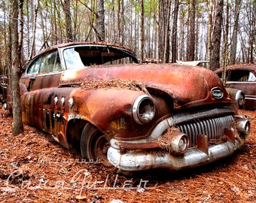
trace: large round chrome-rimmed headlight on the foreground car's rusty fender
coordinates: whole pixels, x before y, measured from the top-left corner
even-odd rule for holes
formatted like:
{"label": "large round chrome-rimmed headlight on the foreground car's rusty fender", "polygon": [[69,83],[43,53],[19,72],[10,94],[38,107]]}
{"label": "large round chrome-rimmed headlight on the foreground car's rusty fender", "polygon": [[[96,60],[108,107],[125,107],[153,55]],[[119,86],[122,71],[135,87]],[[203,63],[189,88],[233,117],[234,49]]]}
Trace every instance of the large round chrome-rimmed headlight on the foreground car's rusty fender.
{"label": "large round chrome-rimmed headlight on the foreground car's rusty fender", "polygon": [[148,95],[139,95],[133,104],[133,118],[136,123],[149,123],[154,118],[154,102]]}

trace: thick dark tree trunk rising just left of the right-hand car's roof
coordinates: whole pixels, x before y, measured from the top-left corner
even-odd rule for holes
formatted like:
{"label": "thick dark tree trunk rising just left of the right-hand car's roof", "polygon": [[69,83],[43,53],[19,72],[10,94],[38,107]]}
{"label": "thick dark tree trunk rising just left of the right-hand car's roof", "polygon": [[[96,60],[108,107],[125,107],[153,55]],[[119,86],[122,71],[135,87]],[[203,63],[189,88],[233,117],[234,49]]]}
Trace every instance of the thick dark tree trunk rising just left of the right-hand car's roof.
{"label": "thick dark tree trunk rising just left of the right-hand car's roof", "polygon": [[215,5],[215,26],[212,32],[212,59],[210,61],[212,71],[220,67],[222,13],[223,0],[217,0]]}

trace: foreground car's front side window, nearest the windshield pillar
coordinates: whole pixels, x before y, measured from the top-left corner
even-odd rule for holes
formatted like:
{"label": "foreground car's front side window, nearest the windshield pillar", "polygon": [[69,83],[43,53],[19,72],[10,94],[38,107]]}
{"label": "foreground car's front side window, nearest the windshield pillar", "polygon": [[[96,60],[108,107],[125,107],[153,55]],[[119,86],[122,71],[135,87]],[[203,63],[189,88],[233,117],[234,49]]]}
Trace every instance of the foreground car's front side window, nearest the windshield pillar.
{"label": "foreground car's front side window, nearest the windshield pillar", "polygon": [[40,73],[61,71],[59,53],[57,51],[42,56]]}

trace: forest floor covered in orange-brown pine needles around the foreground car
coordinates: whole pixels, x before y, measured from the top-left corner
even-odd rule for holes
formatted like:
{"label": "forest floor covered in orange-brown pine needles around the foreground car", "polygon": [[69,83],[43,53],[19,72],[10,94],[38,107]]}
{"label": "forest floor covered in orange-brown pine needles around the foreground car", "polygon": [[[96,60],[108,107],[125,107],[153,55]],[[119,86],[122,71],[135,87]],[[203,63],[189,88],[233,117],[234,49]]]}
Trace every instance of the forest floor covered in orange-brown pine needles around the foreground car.
{"label": "forest floor covered in orange-brown pine needles around the foreground car", "polygon": [[1,202],[256,202],[256,112],[251,135],[233,156],[200,168],[143,171],[84,162],[75,151],[29,126],[11,135],[12,118],[0,110]]}

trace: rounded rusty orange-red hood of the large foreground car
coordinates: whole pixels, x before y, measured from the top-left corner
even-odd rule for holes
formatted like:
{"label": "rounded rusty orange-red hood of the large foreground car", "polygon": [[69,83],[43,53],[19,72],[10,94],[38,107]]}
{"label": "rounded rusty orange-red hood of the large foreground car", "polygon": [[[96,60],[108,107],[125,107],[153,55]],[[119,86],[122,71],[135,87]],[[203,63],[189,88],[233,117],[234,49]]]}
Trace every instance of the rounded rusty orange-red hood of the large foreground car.
{"label": "rounded rusty orange-red hood of the large foreground car", "polygon": [[172,96],[175,108],[220,102],[211,96],[211,89],[214,87],[223,89],[224,98],[221,98],[221,102],[230,101],[229,93],[213,71],[178,64],[109,65],[72,69],[63,72],[60,86],[81,84],[85,80],[116,78],[142,81],[148,88],[166,92]]}

